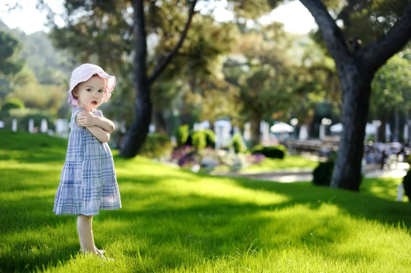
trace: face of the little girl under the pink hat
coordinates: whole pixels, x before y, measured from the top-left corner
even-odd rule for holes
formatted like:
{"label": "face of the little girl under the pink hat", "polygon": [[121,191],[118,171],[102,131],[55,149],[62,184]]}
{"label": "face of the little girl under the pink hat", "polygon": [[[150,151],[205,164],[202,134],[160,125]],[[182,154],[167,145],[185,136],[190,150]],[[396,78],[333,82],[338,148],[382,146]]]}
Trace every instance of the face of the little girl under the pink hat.
{"label": "face of the little girl under the pink hat", "polygon": [[105,96],[105,79],[93,76],[87,81],[79,83],[73,90],[73,95],[77,97],[79,105],[85,109],[96,109],[101,105]]}

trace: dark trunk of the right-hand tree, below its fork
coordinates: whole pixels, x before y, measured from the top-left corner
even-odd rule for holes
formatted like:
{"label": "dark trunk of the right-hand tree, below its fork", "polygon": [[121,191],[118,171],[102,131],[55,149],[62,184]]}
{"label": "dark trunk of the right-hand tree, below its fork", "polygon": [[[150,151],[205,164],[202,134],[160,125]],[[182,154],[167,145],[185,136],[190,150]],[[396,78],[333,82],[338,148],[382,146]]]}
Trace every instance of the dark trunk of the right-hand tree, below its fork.
{"label": "dark trunk of the right-hand tree, below its fork", "polygon": [[369,113],[371,79],[356,64],[347,62],[340,75],[343,88],[343,125],[331,187],[360,190],[366,118]]}

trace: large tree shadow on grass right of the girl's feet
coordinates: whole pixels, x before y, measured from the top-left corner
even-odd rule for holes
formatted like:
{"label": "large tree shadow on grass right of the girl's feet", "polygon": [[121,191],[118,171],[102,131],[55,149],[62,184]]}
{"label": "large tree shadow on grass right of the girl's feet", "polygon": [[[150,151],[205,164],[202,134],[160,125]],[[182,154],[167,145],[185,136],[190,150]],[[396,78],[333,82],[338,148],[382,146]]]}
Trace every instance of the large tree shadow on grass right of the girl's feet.
{"label": "large tree shadow on grass right of the girl's feet", "polygon": [[[162,266],[168,269],[195,267],[201,259],[212,259],[216,256],[242,257],[247,255],[249,248],[257,249],[260,243],[260,248],[280,251],[292,239],[308,247],[322,248],[343,242],[350,235],[348,224],[340,221],[329,229],[324,229],[313,239],[312,231],[319,226],[323,227],[325,222],[334,221],[333,216],[320,215],[317,216],[319,220],[314,222],[306,221],[308,218],[302,213],[298,218],[293,214],[276,216],[282,209],[295,209],[295,206],[288,202],[256,205],[229,198],[206,198],[196,194],[185,196],[184,199],[188,203],[186,207],[164,207],[162,203],[157,203],[152,204],[157,208],[154,210],[123,209],[115,216],[105,214],[105,219],[121,219],[124,224],[112,229],[105,226],[104,232],[111,238],[103,238],[103,244],[110,246],[110,240],[114,235],[119,240],[127,235],[134,237],[136,241],[138,238],[149,240],[147,246],[130,246],[125,255],[127,259],[137,259],[140,253],[143,259],[150,260],[155,253],[160,257],[161,266],[155,265],[156,267],[151,268],[153,265],[142,264],[134,270],[157,272]],[[163,202],[172,204],[173,200],[165,198]],[[297,209],[301,207],[315,213],[322,205],[297,206]],[[292,222],[304,226],[298,230],[291,230]],[[261,241],[261,237],[268,240]],[[256,244],[251,246],[254,239],[257,239]],[[197,256],[201,259],[197,259]]]}

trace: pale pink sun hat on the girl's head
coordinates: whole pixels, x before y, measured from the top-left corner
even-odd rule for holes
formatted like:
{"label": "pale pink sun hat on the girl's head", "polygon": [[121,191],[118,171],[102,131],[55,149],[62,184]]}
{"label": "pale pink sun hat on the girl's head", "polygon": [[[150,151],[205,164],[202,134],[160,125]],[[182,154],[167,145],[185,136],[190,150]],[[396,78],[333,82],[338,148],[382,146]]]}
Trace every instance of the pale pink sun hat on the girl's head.
{"label": "pale pink sun hat on the girl's head", "polygon": [[116,77],[108,75],[107,73],[105,73],[103,68],[96,66],[95,64],[82,64],[81,66],[75,68],[75,70],[73,70],[73,73],[71,73],[70,89],[69,92],[67,92],[71,106],[77,106],[79,104],[79,101],[73,96],[71,91],[73,91],[77,84],[87,81],[92,77],[92,75],[95,74],[99,75],[99,77],[103,79],[107,79],[107,84],[105,85],[106,96],[103,99],[102,103],[110,99],[111,92],[116,85]]}

